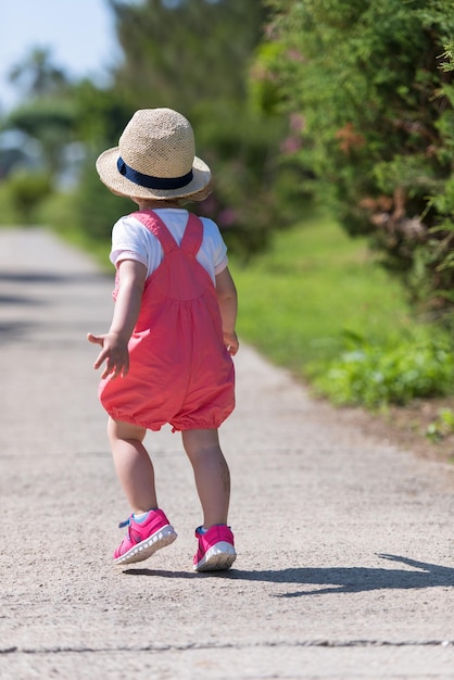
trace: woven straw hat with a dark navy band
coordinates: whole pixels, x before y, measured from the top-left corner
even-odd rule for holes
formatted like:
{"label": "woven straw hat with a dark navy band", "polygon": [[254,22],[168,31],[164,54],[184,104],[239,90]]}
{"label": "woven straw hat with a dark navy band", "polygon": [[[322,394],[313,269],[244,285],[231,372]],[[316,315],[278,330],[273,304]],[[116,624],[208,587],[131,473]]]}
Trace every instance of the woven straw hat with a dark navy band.
{"label": "woven straw hat with a dark navy band", "polygon": [[172,109],[136,111],[118,146],[99,156],[97,171],[122,196],[165,200],[210,193],[211,172],[196,156],[192,127]]}

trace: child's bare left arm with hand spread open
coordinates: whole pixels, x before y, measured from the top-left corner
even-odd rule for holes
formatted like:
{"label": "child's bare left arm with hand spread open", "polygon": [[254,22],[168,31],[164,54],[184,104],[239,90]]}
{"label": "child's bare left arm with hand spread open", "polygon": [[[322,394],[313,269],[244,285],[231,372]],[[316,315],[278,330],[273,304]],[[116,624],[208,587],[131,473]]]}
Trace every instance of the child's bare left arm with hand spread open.
{"label": "child's bare left arm with hand spread open", "polygon": [[106,378],[110,374],[116,378],[128,373],[128,341],[139,316],[146,276],[147,267],[140,262],[123,260],[119,263],[118,294],[111,327],[101,336],[92,333],[87,336],[90,342],[102,347],[93,364],[93,368],[99,368],[106,362],[102,378]]}

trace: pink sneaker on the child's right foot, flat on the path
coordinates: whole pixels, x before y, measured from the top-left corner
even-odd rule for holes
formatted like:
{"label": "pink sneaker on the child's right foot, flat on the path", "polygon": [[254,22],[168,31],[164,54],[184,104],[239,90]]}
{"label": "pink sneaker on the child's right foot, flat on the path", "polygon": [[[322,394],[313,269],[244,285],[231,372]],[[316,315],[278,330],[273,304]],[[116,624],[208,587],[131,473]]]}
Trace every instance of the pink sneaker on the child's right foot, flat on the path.
{"label": "pink sneaker on the child's right foot, flat on the path", "polygon": [[222,571],[229,569],[237,558],[234,534],[230,527],[215,525],[206,533],[196,529],[199,539],[199,550],[194,555],[194,571]]}

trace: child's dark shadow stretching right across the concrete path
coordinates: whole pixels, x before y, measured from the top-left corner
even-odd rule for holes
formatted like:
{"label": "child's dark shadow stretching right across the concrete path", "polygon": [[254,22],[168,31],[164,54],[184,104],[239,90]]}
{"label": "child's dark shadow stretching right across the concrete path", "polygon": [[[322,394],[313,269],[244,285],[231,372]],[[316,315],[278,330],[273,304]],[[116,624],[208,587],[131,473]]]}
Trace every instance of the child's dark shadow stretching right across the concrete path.
{"label": "child's dark shadow stretching right across the concrete path", "polygon": [[417,562],[396,555],[379,555],[382,559],[398,562],[415,571],[407,569],[375,569],[367,567],[293,567],[278,570],[213,571],[189,574],[187,571],[159,571],[154,569],[126,569],[126,576],[154,576],[161,578],[200,578],[216,577],[238,581],[260,581],[269,583],[298,583],[300,585],[326,585],[318,590],[299,590],[293,593],[276,595],[277,597],[301,597],[302,595],[327,595],[330,593],[360,593],[371,590],[408,590],[413,588],[450,588],[454,587],[454,568]]}

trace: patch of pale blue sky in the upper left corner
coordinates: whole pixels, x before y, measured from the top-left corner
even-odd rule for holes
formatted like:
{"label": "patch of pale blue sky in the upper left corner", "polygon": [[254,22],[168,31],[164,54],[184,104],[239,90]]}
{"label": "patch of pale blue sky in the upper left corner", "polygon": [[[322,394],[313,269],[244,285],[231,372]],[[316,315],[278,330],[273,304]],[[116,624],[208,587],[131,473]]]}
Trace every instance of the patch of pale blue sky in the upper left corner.
{"label": "patch of pale blue sky in the upper left corner", "polygon": [[53,62],[74,77],[105,77],[118,58],[106,0],[0,0],[0,111],[16,95],[8,72],[34,47],[49,47]]}

